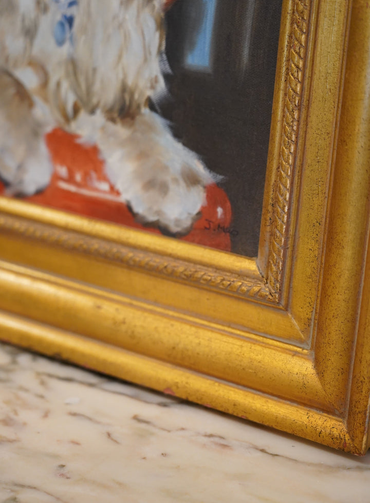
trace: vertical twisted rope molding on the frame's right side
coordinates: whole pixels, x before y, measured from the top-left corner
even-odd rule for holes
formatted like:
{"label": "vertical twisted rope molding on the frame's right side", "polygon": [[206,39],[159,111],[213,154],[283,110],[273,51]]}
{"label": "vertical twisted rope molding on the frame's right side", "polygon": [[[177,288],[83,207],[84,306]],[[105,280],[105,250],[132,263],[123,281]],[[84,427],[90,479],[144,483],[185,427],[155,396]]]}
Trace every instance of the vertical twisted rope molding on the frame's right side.
{"label": "vertical twisted rope molding on the frame's right side", "polygon": [[283,136],[280,150],[278,180],[274,200],[274,222],[269,256],[267,284],[276,302],[279,301],[288,237],[288,211],[293,162],[302,101],[307,28],[311,0],[296,0],[291,32],[288,85],[284,110]]}

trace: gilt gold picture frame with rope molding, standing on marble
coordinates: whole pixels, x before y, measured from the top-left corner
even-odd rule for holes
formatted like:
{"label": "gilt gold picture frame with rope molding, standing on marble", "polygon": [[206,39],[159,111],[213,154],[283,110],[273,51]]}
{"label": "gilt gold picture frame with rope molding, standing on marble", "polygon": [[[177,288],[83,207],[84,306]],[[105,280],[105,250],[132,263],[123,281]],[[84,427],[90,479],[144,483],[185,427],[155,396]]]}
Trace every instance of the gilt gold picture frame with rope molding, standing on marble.
{"label": "gilt gold picture frame with rope molding, standing on marble", "polygon": [[1,339],[364,454],[367,4],[283,2],[257,258],[0,198]]}

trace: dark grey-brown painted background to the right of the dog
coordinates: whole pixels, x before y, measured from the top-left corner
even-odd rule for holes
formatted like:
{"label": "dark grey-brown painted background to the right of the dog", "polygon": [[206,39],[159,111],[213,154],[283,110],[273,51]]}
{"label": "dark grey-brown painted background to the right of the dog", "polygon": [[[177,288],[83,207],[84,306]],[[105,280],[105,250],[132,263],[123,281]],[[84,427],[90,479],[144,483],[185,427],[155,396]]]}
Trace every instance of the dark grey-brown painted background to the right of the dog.
{"label": "dark grey-brown painted background to the right of the dog", "polygon": [[[197,68],[187,59],[207,2],[215,2],[210,65]],[[172,98],[161,103],[161,114],[184,145],[225,176],[219,185],[231,201],[237,231],[232,251],[250,257],[260,234],[281,3],[177,0],[166,20]]]}

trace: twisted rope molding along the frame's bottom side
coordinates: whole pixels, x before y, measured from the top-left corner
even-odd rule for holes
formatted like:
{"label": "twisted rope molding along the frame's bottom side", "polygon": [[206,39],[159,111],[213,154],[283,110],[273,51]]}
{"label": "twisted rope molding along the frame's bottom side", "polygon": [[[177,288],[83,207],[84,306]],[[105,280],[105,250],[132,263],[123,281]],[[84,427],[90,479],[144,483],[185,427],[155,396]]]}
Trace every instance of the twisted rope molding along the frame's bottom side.
{"label": "twisted rope molding along the frame's bottom side", "polygon": [[27,239],[43,241],[47,245],[102,258],[126,267],[164,275],[173,280],[182,280],[243,297],[274,302],[269,289],[262,280],[227,274],[210,267],[169,259],[162,255],[81,235],[73,231],[56,229],[42,223],[30,223],[21,218],[4,214],[0,215],[0,230],[3,233],[22,235]]}

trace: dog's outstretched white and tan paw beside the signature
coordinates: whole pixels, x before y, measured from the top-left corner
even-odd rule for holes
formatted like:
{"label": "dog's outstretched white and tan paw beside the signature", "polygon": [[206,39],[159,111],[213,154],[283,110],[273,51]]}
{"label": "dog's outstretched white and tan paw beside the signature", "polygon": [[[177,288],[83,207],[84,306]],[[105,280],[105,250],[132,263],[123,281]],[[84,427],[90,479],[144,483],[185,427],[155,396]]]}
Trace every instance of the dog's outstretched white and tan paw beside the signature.
{"label": "dog's outstretched white and tan paw beside the signature", "polygon": [[94,135],[110,182],[137,220],[167,234],[185,234],[200,215],[205,187],[214,178],[167,123],[151,111]]}

